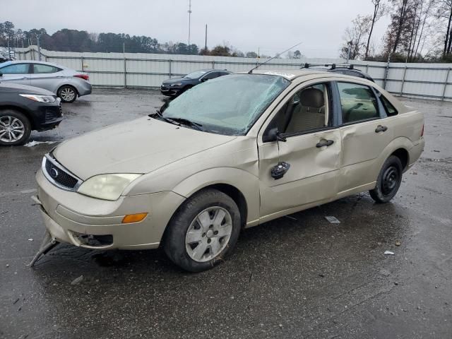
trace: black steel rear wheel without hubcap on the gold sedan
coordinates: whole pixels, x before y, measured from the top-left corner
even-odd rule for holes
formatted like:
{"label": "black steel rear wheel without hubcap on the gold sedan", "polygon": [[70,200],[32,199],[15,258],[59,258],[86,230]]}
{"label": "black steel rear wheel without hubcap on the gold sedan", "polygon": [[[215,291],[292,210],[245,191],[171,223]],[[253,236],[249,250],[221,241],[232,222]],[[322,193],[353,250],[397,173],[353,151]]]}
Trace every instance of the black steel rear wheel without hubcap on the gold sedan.
{"label": "black steel rear wheel without hubcap on the gold sedan", "polygon": [[402,162],[395,155],[388,157],[381,167],[379,177],[376,180],[375,189],[371,189],[369,194],[376,203],[388,203],[396,196],[402,183],[403,166]]}

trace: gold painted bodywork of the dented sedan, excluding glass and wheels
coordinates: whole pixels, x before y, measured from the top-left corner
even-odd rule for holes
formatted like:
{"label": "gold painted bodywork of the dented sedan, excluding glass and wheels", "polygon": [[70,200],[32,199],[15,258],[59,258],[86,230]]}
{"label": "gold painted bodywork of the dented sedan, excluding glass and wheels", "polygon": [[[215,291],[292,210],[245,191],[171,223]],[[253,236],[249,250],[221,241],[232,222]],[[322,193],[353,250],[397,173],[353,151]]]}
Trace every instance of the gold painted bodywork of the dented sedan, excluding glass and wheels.
{"label": "gold painted bodywork of the dented sedan, excluding glass and wheels", "polygon": [[[420,157],[424,148],[422,113],[403,106],[374,83],[320,71],[271,73],[292,83],[268,105],[246,135],[206,133],[145,117],[61,143],[53,151],[55,159],[82,181],[97,174],[143,175],[126,186],[117,201],[105,201],[59,189],[40,169],[38,198],[52,237],[91,248],[80,242],[77,234],[110,234],[112,243],[102,248],[155,248],[172,215],[203,188],[237,190],[245,205],[241,208],[242,223],[251,227],[373,189],[381,166],[398,150],[408,154],[405,170]],[[337,117],[340,104],[334,92],[338,81],[378,90],[398,114],[341,125]],[[326,105],[328,126],[287,136],[285,141],[264,141],[271,121],[287,100],[319,83],[328,83],[331,88]],[[386,126],[386,131],[376,133],[379,126]],[[319,147],[323,141],[331,144]],[[290,169],[274,179],[270,173],[279,162],[290,164]],[[133,213],[148,215],[141,222],[121,223],[124,215]]]}

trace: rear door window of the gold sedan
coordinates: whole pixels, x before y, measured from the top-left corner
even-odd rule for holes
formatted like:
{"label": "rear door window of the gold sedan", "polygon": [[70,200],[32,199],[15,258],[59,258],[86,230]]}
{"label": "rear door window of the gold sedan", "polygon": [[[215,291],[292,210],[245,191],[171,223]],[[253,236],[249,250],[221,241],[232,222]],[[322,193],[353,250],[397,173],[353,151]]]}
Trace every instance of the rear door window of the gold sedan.
{"label": "rear door window of the gold sedan", "polygon": [[357,83],[338,83],[342,122],[348,124],[380,117],[374,92]]}

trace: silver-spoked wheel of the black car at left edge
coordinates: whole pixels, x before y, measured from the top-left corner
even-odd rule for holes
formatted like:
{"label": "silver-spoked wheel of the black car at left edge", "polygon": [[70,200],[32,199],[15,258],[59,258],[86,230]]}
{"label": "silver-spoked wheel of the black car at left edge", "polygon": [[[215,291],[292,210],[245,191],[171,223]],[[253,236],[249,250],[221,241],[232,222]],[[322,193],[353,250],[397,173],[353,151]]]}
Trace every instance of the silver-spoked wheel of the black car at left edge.
{"label": "silver-spoked wheel of the black car at left edge", "polygon": [[23,145],[30,138],[31,124],[28,117],[14,109],[0,110],[0,145]]}

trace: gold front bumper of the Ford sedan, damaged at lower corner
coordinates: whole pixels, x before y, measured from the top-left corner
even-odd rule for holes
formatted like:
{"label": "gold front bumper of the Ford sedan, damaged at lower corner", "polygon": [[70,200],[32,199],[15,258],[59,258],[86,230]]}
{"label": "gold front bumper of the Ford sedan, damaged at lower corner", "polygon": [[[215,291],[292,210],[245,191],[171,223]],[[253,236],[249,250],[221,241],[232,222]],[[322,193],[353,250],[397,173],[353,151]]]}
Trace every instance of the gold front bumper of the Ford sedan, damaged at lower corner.
{"label": "gold front bumper of the Ford sedan, damaged at lower corner", "polygon": [[[103,201],[64,191],[50,183],[42,170],[36,174],[35,201],[40,206],[44,224],[58,242],[90,249],[153,249],[159,246],[165,227],[184,201],[174,192],[121,196],[117,201]],[[124,215],[148,213],[141,222],[122,224]],[[108,239],[93,244],[83,239]]]}

